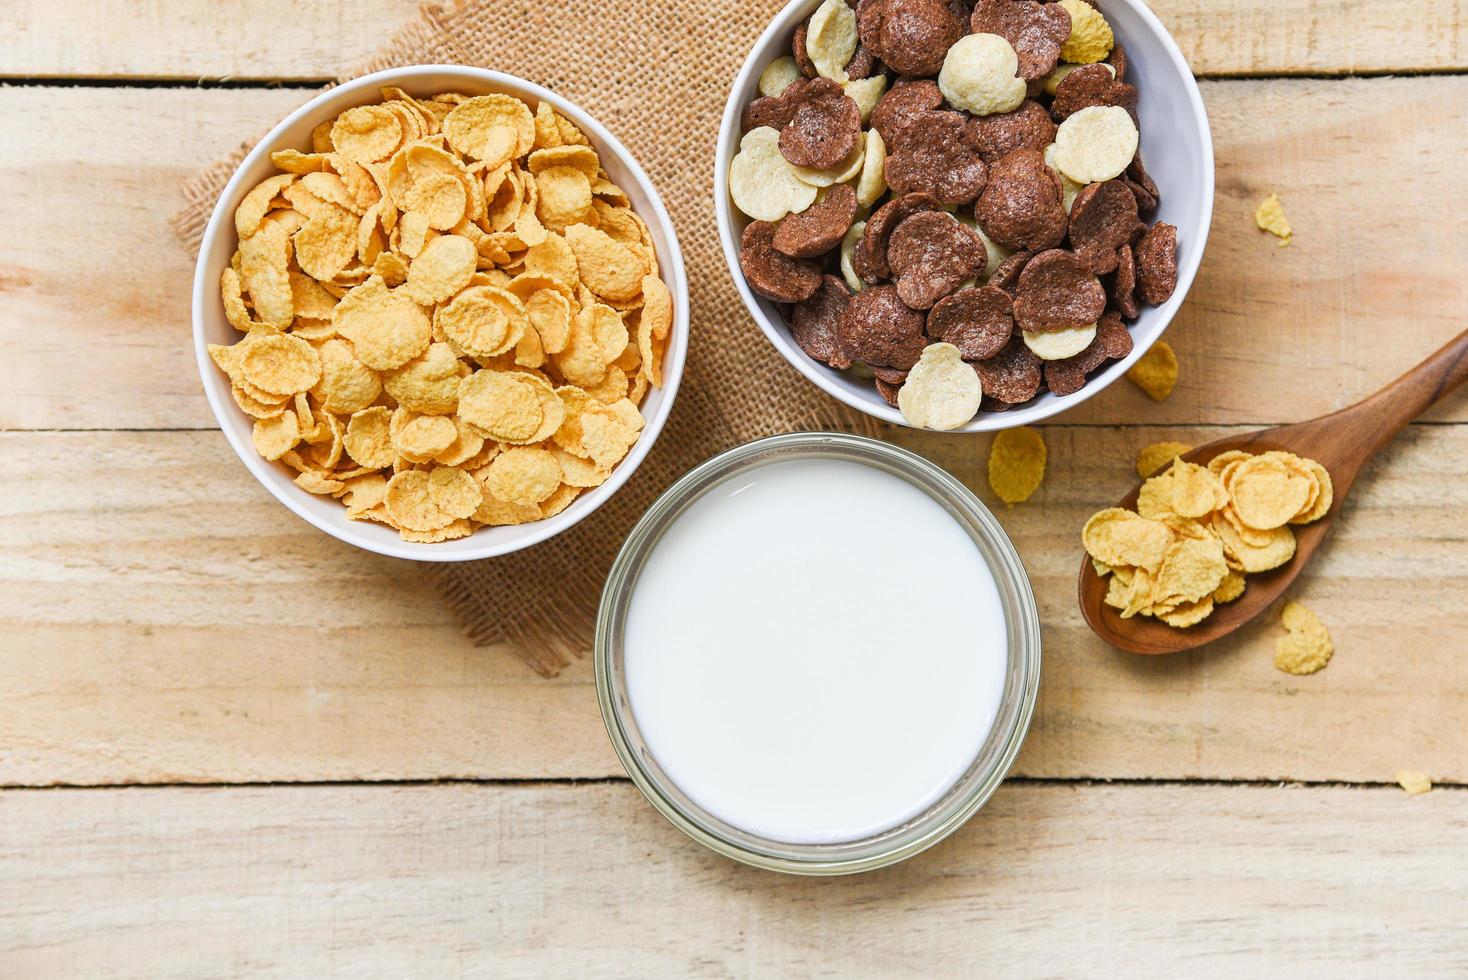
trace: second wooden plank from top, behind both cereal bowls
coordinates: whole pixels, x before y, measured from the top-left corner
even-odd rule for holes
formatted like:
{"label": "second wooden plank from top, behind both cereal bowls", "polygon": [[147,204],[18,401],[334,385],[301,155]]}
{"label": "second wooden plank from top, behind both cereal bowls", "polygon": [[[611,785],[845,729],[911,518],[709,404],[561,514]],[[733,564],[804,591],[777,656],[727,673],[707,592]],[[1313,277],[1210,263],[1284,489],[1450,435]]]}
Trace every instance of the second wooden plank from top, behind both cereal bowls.
{"label": "second wooden plank from top, behind both cereal bowls", "polygon": [[[1169,332],[1182,380],[1161,405],[1116,384],[1067,423],[1308,418],[1462,329],[1468,223],[1436,216],[1452,161],[1468,154],[1468,78],[1205,91],[1218,204],[1201,280]],[[12,232],[0,241],[0,324],[13,324],[0,330],[0,428],[213,424],[189,348],[191,263],[166,222],[181,180],[305,97],[0,89],[16,134],[0,142],[0,226]],[[1290,248],[1254,227],[1270,191],[1295,220]],[[677,220],[697,241],[712,219]],[[1468,420],[1468,399],[1434,418]]]}

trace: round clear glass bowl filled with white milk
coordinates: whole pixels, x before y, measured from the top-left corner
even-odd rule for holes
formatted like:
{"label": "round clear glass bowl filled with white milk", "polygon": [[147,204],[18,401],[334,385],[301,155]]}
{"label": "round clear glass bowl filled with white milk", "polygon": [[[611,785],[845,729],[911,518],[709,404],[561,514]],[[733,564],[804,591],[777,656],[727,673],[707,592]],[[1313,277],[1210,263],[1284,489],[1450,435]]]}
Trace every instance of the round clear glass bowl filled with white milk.
{"label": "round clear glass bowl filled with white milk", "polygon": [[932,846],[1014,761],[1039,621],[963,484],[860,436],[702,464],[627,537],[596,628],[602,717],[633,782],[727,857],[865,871]]}

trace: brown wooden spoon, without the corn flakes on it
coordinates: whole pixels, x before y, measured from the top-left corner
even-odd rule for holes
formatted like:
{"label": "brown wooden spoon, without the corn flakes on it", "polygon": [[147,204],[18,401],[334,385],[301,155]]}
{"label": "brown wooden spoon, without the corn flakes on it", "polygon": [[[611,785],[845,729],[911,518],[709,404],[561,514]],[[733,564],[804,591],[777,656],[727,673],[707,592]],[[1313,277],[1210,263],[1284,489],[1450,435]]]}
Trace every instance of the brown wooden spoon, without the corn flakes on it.
{"label": "brown wooden spoon, without the corn flakes on it", "polygon": [[[1102,601],[1107,582],[1097,575],[1089,556],[1080,560],[1080,613],[1098,637],[1113,647],[1132,653],[1179,653],[1233,632],[1264,612],[1295,581],[1295,577],[1305,568],[1330,531],[1330,525],[1340,515],[1340,506],[1346,502],[1351,486],[1376,450],[1390,442],[1403,425],[1427,411],[1430,405],[1462,384],[1464,380],[1468,380],[1468,330],[1459,333],[1437,354],[1376,395],[1351,408],[1308,423],[1230,436],[1183,455],[1188,462],[1207,464],[1230,449],[1245,449],[1254,453],[1284,449],[1315,459],[1330,471],[1334,502],[1320,521],[1293,528],[1295,557],[1280,568],[1249,575],[1248,588],[1242,597],[1217,606],[1213,615],[1196,626],[1177,629],[1151,616],[1122,619],[1120,610]],[[1117,506],[1135,509],[1139,490],[1141,487],[1132,490]]]}

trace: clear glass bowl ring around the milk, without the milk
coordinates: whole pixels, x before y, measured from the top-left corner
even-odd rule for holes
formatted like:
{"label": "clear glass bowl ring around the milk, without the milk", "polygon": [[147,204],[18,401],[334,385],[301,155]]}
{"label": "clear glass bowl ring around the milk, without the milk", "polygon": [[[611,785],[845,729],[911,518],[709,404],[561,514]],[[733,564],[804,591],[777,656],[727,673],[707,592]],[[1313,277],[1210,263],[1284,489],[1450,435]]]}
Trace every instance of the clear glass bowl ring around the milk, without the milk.
{"label": "clear glass bowl ring around the milk, without the milk", "polygon": [[[633,714],[622,640],[637,577],[664,531],[715,486],[756,467],[791,458],[841,459],[897,475],[937,500],[973,538],[994,574],[1009,631],[1009,666],[998,714],[959,780],[910,820],[857,841],[787,844],[750,835],[708,813],[664,773]],[[628,776],[680,830],[746,864],[793,874],[850,874],[894,864],[957,830],[994,794],[1019,754],[1039,688],[1039,616],[1025,566],[1004,530],[962,483],[906,449],[841,433],[772,436],[724,452],[678,480],[627,535],[606,579],[596,619],[596,692],[602,719]]]}

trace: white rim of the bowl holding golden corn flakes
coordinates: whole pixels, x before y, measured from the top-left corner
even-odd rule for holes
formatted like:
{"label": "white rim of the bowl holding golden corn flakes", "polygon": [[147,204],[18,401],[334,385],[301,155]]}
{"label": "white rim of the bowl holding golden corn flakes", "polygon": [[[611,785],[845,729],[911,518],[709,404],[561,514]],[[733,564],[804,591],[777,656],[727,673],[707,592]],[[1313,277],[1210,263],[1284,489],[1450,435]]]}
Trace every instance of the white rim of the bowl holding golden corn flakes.
{"label": "white rim of the bowl holding golden corn flakes", "polygon": [[[277,481],[272,480],[269,475],[276,464],[255,453],[254,446],[248,445],[245,437],[235,433],[226,420],[226,414],[229,418],[233,418],[242,412],[233,403],[233,399],[222,380],[223,376],[214,370],[213,359],[208,356],[210,339],[206,336],[204,326],[206,310],[211,308],[208,304],[219,302],[219,289],[217,285],[213,285],[217,282],[219,273],[214,270],[213,276],[210,274],[210,249],[220,235],[233,233],[232,202],[239,197],[247,172],[251,170],[272,150],[279,148],[277,142],[286,129],[295,126],[302,119],[321,114],[321,107],[327,103],[333,103],[344,97],[349,98],[351,95],[366,89],[374,91],[382,85],[401,84],[405,79],[411,81],[424,75],[457,76],[465,82],[473,82],[477,87],[490,88],[493,91],[514,92],[550,103],[556,111],[567,116],[571,122],[581,128],[599,150],[609,151],[617,161],[625,167],[627,173],[630,173],[633,180],[637,183],[639,191],[647,198],[647,204],[652,211],[649,217],[655,219],[655,222],[661,224],[668,244],[668,248],[665,249],[666,254],[659,254],[658,258],[659,273],[668,283],[668,289],[672,292],[674,323],[664,358],[661,401],[656,411],[650,415],[644,415],[642,436],[633,445],[631,452],[628,452],[628,455],[612,469],[612,475],[608,477],[603,484],[584,494],[590,506],[573,506],[555,516],[536,521],[534,524],[520,525],[523,528],[533,530],[524,531],[518,537],[508,540],[495,534],[498,528],[477,528],[468,538],[464,538],[465,541],[476,537],[483,538],[477,547],[465,546],[461,549],[443,549],[442,544],[404,541],[388,535],[382,535],[379,540],[377,537],[363,534],[361,528],[355,527],[349,521],[321,519],[307,508],[298,506],[298,499],[304,500],[304,496],[301,494],[305,494],[307,491],[295,486],[277,486]],[[688,314],[687,267],[684,264],[683,248],[678,244],[678,233],[666,207],[662,202],[662,197],[658,194],[658,188],[647,178],[647,173],[643,170],[642,164],[631,154],[631,151],[628,151],[617,136],[597,122],[596,117],[565,97],[558,95],[556,92],[552,92],[550,89],[528,79],[520,78],[518,75],[496,72],[493,69],[473,67],[468,65],[410,65],[371,72],[327,88],[288,113],[250,150],[248,154],[245,154],[244,160],[239,161],[239,166],[235,167],[235,172],[230,175],[223,191],[220,191],[219,200],[210,213],[208,223],[204,226],[204,235],[200,239],[198,258],[194,266],[191,299],[194,355],[200,380],[204,386],[204,395],[208,399],[210,409],[213,411],[214,420],[219,423],[225,439],[229,440],[235,455],[245,464],[245,468],[255,478],[255,481],[260,483],[270,493],[270,496],[285,505],[285,508],[295,516],[339,541],[345,541],[346,544],[360,547],[366,552],[386,555],[390,557],[407,557],[420,562],[471,562],[484,557],[511,555],[539,544],[540,541],[574,527],[609,500],[622,487],[622,484],[631,478],[633,472],[637,471],[643,459],[652,450],[652,446],[658,442],[658,436],[661,434],[664,424],[668,421],[668,415],[677,401],[688,351]]]}

